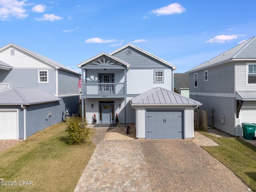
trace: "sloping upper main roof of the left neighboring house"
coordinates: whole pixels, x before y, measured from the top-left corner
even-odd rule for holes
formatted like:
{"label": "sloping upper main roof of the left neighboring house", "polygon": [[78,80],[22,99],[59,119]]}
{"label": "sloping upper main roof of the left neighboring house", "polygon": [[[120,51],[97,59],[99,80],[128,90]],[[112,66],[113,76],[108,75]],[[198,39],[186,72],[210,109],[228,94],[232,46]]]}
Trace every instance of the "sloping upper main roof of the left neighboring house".
{"label": "sloping upper main roof of the left neighboring house", "polygon": [[72,69],[70,69],[70,68],[68,68],[68,67],[66,67],[66,66],[64,66],[64,65],[62,65],[62,64],[60,64],[58,62],[56,62],[56,61],[54,61],[54,60],[52,60],[52,59],[50,59],[48,57],[42,56],[42,55],[40,55],[40,54],[38,54],[36,52],[33,52],[31,50],[28,50],[28,49],[26,49],[26,48],[24,48],[22,46],[19,46],[19,45],[13,44],[13,43],[10,43],[8,45],[12,45],[12,46],[17,47],[17,48],[19,48],[21,50],[24,50],[25,52],[28,52],[29,54],[34,55],[34,56],[40,58],[41,60],[43,60],[43,61],[45,61],[45,62],[47,62],[47,63],[49,63],[49,64],[51,64],[51,65],[53,65],[55,67],[58,67],[58,68],[60,68],[62,70],[66,70],[66,71],[78,74],[76,71],[74,71],[74,70],[72,70]]}

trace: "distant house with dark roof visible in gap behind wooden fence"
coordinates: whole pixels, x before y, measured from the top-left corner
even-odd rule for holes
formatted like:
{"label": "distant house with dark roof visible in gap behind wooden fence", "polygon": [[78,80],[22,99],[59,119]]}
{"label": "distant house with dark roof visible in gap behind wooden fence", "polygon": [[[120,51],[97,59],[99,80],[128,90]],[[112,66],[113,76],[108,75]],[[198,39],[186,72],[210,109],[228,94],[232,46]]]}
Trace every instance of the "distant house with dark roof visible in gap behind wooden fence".
{"label": "distant house with dark roof visible in gap behind wooden fence", "polygon": [[174,73],[174,88],[179,94],[189,98],[189,74]]}

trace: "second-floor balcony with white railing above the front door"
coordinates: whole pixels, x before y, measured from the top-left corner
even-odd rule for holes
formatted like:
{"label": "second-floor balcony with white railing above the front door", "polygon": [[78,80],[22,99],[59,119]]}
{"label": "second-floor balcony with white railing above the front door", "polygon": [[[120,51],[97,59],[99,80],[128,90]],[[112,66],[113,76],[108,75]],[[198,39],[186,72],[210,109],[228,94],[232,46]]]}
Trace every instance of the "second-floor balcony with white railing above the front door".
{"label": "second-floor balcony with white railing above the front door", "polygon": [[84,83],[82,85],[84,98],[125,97],[125,83]]}

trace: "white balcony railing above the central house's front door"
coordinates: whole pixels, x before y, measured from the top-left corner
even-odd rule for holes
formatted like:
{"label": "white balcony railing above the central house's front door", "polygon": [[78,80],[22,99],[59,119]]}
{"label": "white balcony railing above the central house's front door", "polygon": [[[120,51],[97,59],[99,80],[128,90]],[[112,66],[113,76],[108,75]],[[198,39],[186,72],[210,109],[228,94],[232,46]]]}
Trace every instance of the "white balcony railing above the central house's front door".
{"label": "white balcony railing above the central house's front door", "polygon": [[84,83],[84,95],[124,95],[124,83]]}

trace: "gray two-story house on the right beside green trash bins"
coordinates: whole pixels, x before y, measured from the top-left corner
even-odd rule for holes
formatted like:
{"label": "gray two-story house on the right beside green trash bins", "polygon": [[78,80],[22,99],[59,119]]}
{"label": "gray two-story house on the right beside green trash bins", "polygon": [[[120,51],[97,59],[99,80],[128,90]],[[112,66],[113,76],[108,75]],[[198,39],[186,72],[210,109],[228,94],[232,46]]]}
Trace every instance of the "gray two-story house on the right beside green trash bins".
{"label": "gray two-story house on the right beside green trash bins", "polygon": [[256,37],[204,62],[190,75],[190,98],[208,111],[208,123],[234,136],[241,123],[256,123]]}

